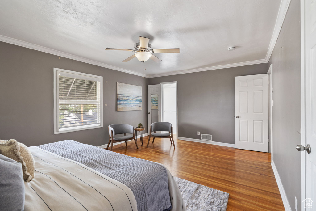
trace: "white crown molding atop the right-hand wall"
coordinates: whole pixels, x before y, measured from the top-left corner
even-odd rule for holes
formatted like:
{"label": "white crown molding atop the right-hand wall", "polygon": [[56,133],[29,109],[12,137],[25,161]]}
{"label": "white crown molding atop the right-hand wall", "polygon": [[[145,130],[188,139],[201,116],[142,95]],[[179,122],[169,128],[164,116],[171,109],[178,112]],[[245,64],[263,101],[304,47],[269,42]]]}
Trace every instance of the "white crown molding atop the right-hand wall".
{"label": "white crown molding atop the right-hand wall", "polygon": [[271,38],[270,45],[268,48],[268,52],[267,52],[267,55],[265,56],[265,60],[267,60],[268,62],[270,60],[270,56],[273,52],[273,49],[276,45],[277,38],[279,37],[279,34],[281,32],[281,28],[282,28],[286,13],[289,9],[290,2],[291,2],[291,0],[281,0],[279,12],[278,12],[277,18],[276,18],[276,25],[274,26],[272,38]]}

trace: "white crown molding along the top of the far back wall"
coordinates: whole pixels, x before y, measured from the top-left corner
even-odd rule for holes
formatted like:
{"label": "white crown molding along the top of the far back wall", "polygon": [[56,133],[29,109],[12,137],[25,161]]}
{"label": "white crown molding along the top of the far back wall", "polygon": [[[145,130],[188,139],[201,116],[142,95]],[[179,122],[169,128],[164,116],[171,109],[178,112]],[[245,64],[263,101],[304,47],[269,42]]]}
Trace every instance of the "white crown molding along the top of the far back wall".
{"label": "white crown molding along the top of the far back wall", "polygon": [[203,67],[203,68],[197,68],[197,69],[181,70],[181,71],[175,71],[175,72],[167,72],[167,73],[149,75],[149,78],[179,75],[179,74],[201,72],[201,71],[208,71],[208,70],[218,70],[218,69],[223,69],[223,68],[239,67],[239,66],[246,66],[246,65],[256,65],[256,64],[267,63],[267,62],[268,61],[266,59],[259,59],[259,60],[254,60],[254,61],[239,62],[239,63],[228,64],[228,65],[217,65],[217,66],[211,66],[211,67]]}

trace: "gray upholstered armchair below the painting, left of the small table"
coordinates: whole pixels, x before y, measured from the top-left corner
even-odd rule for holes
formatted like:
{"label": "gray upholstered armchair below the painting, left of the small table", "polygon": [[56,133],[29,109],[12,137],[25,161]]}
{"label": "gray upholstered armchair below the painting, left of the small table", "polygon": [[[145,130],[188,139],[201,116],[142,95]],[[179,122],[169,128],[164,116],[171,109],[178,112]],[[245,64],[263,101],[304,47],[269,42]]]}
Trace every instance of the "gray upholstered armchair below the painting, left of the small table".
{"label": "gray upholstered armchair below the painting, left of the small table", "polygon": [[[109,140],[109,143],[107,144],[106,149],[109,148],[110,142],[111,142],[111,151],[112,151],[113,143],[125,141],[125,145],[127,146],[126,141],[132,140],[132,139],[134,139],[136,147],[138,149],[133,126],[128,125],[128,124],[113,124],[113,125],[109,125],[108,128],[109,128],[110,140]],[[115,135],[118,135],[118,134],[124,134],[124,136],[115,137]]]}

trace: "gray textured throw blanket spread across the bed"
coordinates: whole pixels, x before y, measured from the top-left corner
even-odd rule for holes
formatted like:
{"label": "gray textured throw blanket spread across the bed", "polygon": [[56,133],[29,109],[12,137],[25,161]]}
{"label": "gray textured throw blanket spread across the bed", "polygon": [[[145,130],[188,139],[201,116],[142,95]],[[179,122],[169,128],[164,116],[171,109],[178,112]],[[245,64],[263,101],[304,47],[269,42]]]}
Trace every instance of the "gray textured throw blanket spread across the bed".
{"label": "gray textured throw blanket spread across the bed", "polygon": [[38,147],[75,160],[125,184],[135,196],[138,211],[171,209],[167,170],[161,164],[74,140],[64,140]]}

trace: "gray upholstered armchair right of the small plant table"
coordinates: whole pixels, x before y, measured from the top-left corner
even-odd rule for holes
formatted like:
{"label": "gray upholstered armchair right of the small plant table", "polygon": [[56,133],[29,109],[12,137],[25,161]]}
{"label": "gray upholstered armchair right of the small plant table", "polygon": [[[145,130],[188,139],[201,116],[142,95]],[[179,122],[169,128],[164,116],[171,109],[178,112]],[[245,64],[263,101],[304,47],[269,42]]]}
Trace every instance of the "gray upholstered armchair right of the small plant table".
{"label": "gray upholstered armchair right of the small plant table", "polygon": [[[156,133],[156,131],[167,131],[169,133]],[[154,143],[155,138],[169,138],[171,144],[173,144],[173,147],[176,148],[174,146],[174,140],[172,136],[172,126],[170,122],[165,122],[165,121],[154,122],[150,125],[147,147],[149,145],[149,140],[151,137],[153,137],[153,143]]]}

